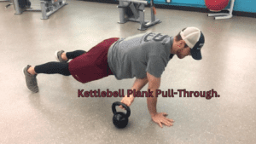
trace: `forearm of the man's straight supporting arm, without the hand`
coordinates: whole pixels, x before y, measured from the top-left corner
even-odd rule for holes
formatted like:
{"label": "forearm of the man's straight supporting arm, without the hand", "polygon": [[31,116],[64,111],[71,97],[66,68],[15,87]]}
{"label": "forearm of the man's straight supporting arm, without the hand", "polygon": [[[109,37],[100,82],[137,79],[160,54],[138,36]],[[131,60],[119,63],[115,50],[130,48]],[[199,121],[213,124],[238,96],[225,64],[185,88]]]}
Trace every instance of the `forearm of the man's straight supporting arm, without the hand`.
{"label": "forearm of the man's straight supporting arm, without the hand", "polygon": [[152,117],[157,113],[157,111],[156,111],[157,97],[155,95],[156,89],[150,89],[150,91],[153,91],[152,95],[154,97],[148,97],[147,104],[148,104],[148,112],[150,113],[150,115]]}

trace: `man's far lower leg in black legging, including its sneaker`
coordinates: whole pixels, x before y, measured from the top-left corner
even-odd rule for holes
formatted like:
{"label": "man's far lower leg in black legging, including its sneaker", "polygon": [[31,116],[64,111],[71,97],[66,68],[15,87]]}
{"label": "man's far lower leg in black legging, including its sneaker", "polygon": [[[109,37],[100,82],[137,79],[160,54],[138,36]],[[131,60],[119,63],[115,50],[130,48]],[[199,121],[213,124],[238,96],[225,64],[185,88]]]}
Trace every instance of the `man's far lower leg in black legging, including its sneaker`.
{"label": "man's far lower leg in black legging, including its sneaker", "polygon": [[75,50],[72,52],[64,52],[63,50],[61,51],[55,51],[55,58],[56,60],[60,61],[60,62],[66,62],[70,59],[74,59],[80,55],[85,54],[86,51],[84,50]]}

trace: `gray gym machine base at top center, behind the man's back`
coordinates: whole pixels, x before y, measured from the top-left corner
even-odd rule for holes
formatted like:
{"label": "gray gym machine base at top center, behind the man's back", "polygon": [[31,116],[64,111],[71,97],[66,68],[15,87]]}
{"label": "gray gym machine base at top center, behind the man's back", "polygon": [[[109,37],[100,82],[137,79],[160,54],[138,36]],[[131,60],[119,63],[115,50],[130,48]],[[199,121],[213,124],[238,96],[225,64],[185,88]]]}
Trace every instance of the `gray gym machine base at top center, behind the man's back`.
{"label": "gray gym machine base at top center, behind the man's back", "polygon": [[145,0],[119,0],[119,24],[124,24],[127,21],[140,22],[138,30],[145,31],[149,26],[161,23],[160,20],[155,19],[154,0],[150,0],[151,21],[144,20],[147,4],[148,1]]}

